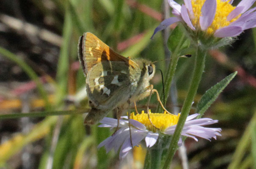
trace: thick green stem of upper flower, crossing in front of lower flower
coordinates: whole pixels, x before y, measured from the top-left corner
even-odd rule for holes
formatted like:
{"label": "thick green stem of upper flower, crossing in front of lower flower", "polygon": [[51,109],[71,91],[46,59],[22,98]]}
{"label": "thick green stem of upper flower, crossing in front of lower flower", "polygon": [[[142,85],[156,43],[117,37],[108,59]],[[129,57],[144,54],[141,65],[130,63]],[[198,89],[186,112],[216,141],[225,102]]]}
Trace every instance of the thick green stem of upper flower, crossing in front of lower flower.
{"label": "thick green stem of upper flower, crossing in front of lower flower", "polygon": [[193,71],[193,78],[190,83],[190,87],[189,87],[189,90],[187,93],[187,98],[185,99],[184,104],[182,106],[181,115],[179,117],[178,124],[177,124],[175,132],[173,134],[173,138],[171,140],[171,144],[170,144],[170,147],[169,147],[168,153],[167,153],[168,156],[166,158],[163,169],[170,168],[174,153],[177,150],[177,143],[181,136],[182,128],[183,128],[185,121],[187,119],[187,116],[190,112],[192,102],[194,100],[196,91],[198,89],[199,82],[201,80],[201,76],[204,71],[205,57],[206,57],[206,51],[201,51],[201,49],[199,49],[199,46],[198,46],[196,56],[195,56],[195,68]]}

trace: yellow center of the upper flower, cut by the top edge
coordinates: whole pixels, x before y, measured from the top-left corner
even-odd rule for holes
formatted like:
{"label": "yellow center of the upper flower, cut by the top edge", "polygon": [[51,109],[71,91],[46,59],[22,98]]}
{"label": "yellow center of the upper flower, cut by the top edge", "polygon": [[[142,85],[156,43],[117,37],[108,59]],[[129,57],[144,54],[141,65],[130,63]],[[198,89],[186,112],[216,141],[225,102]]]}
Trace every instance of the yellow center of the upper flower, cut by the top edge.
{"label": "yellow center of the upper flower, cut by the top edge", "polygon": [[[227,21],[228,14],[236,8],[228,3],[229,1],[230,0],[223,2],[221,0],[217,0],[215,17],[213,19],[212,25],[210,25],[206,30],[206,33],[208,35],[212,35],[217,29],[228,26],[231,22],[234,22],[241,16],[241,14],[239,14],[237,17],[231,19],[231,21]],[[196,28],[200,27],[199,18],[202,15],[201,8],[203,7],[204,2],[205,0],[191,0],[194,13],[194,17],[192,18],[192,24]]]}

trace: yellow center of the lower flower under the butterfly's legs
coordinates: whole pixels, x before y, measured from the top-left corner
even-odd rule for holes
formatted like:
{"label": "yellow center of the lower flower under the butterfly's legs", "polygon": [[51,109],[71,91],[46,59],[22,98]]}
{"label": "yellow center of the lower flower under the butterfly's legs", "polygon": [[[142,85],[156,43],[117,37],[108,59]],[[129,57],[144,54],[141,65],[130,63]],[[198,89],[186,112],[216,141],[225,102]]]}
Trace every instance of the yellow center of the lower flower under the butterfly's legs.
{"label": "yellow center of the lower flower under the butterfly's legs", "polygon": [[[149,110],[149,116],[144,111],[142,111],[141,114],[134,114],[134,112],[132,112],[130,119],[137,120],[138,122],[144,124],[150,131],[156,132],[157,128],[159,128],[159,130],[163,132],[165,131],[165,128],[176,125],[178,123],[179,116],[180,114],[174,115],[166,112],[151,113],[151,110]],[[149,117],[152,123],[149,121]]]}

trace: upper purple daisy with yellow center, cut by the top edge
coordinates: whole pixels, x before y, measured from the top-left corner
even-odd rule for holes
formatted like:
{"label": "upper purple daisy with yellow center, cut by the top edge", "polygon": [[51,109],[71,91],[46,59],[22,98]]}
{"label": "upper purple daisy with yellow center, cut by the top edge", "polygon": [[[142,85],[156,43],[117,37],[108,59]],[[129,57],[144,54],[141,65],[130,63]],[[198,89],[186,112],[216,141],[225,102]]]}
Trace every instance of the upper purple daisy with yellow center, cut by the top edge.
{"label": "upper purple daisy with yellow center, cut by the top edge", "polygon": [[254,2],[242,0],[233,6],[233,0],[184,0],[184,4],[179,5],[168,0],[175,17],[162,21],[152,37],[175,22],[182,22],[187,30],[199,36],[200,33],[216,38],[237,36],[243,30],[256,27],[256,7],[248,10]]}

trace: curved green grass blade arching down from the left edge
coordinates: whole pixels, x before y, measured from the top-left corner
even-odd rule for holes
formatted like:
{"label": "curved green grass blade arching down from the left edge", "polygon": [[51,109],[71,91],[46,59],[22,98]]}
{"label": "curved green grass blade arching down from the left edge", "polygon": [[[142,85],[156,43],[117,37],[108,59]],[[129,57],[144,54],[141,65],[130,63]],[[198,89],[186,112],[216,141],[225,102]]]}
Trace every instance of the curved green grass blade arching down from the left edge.
{"label": "curved green grass blade arching down from the left edge", "polygon": [[25,63],[22,59],[20,59],[17,55],[14,55],[10,51],[0,47],[0,54],[2,54],[4,57],[8,58],[9,60],[15,62],[17,65],[19,65],[25,72],[28,74],[30,79],[32,79],[36,83],[36,87],[41,95],[41,97],[44,99],[46,109],[50,110],[50,103],[47,98],[47,92],[44,90],[44,87],[42,83],[39,80],[39,77],[37,76],[36,72],[33,71],[30,66]]}

